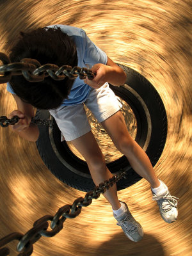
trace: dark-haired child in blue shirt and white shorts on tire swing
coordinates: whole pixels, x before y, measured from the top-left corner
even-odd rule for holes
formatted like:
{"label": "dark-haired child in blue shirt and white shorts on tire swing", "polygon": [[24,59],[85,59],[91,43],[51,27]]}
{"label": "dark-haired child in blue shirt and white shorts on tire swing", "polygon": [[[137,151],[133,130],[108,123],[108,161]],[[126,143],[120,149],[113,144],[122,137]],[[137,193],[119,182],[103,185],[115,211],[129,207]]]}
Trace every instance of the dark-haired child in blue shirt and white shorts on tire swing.
{"label": "dark-haired child in blue shirt and white shorts on tire swing", "polygon": [[[109,88],[108,83],[115,86],[125,83],[124,70],[93,44],[83,29],[57,25],[20,35],[21,38],[10,53],[12,62],[33,58],[41,65],[53,63],[59,67],[90,67],[97,75],[92,81],[88,78],[83,81],[79,77],[75,81],[68,77],[54,81],[51,77],[46,77],[38,83],[28,82],[22,76],[12,77],[7,89],[13,93],[18,110],[10,113],[8,118],[14,115],[21,118],[12,126],[13,131],[26,140],[36,141],[38,127],[30,124],[31,117],[35,116],[33,107],[49,109],[65,140],[71,141],[86,159],[93,182],[97,186],[113,175],[109,172],[92,134],[84,111],[85,104],[108,132],[116,148],[127,157],[132,168],[150,183],[152,199],[157,200],[163,220],[168,223],[175,221],[178,214],[177,200],[170,195],[166,185],[157,179],[147,154],[129,135],[120,103]],[[129,239],[140,241],[143,228],[134,220],[127,204],[118,200],[116,184],[104,196],[111,204],[117,225],[122,227]]]}

